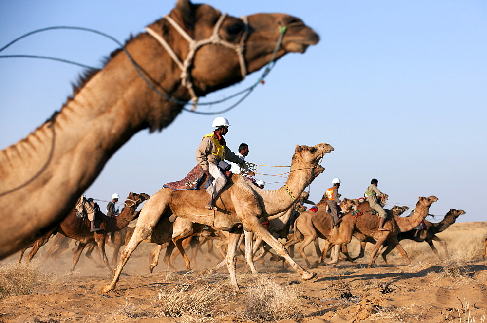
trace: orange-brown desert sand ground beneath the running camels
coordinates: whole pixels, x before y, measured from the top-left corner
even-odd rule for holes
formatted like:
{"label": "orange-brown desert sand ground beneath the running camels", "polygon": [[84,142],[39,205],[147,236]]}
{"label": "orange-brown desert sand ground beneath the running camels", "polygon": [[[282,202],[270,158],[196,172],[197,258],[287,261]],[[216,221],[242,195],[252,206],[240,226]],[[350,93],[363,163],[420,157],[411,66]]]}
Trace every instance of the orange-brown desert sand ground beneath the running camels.
{"label": "orange-brown desert sand ground beneath the running camels", "polygon": [[[242,292],[234,294],[226,267],[216,274],[201,274],[217,263],[201,255],[192,264],[192,273],[183,270],[184,263],[178,257],[176,268],[181,271],[170,272],[161,261],[149,274],[147,252],[152,246],[141,244],[125,267],[117,289],[102,295],[101,286],[110,280],[107,268],[97,268],[82,256],[77,269],[69,272],[69,251],[57,266],[51,259],[43,262],[48,245],[30,265],[41,273],[33,291],[0,299],[0,322],[482,322],[487,313],[487,261],[481,259],[487,222],[457,223],[438,236],[447,241],[449,259],[444,258],[441,246],[437,245],[443,257],[439,261],[426,242],[403,241],[401,245],[412,265],[405,265],[393,251],[388,257],[390,266],[378,259],[375,267],[367,269],[366,252],[357,265],[340,261],[335,266],[312,269],[317,275],[309,281],[302,281],[296,272],[267,256],[263,264],[256,264],[260,276],[289,290],[289,302],[299,304],[298,312],[275,319],[250,315],[248,295],[257,283],[241,261],[237,268]],[[112,249],[107,250],[110,259]],[[355,240],[349,250],[353,256],[358,254]],[[312,249],[308,254],[310,260],[317,260]],[[17,259],[18,254],[2,261],[0,270]],[[295,259],[304,265],[298,253]],[[204,316],[165,314],[161,300],[181,284],[189,289],[209,286],[208,291],[217,293]],[[299,296],[293,298],[294,292]],[[470,320],[465,315],[470,315]]]}

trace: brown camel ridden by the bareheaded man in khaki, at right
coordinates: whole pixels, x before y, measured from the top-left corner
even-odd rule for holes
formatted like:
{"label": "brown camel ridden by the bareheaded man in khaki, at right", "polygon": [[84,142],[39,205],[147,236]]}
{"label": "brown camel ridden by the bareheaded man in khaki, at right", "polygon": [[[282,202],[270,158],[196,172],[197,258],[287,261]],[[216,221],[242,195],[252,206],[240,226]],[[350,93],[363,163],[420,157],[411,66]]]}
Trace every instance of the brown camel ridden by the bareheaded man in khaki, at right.
{"label": "brown camel ridden by the bareheaded man in khaki, at right", "polygon": [[[399,232],[412,230],[418,226],[428,215],[428,210],[430,209],[431,204],[437,200],[438,198],[432,195],[430,197],[419,197],[419,200],[416,203],[415,212],[412,216],[406,218],[392,216],[388,218],[388,221],[386,221],[384,224],[384,228],[386,228],[388,231],[378,230],[379,219],[376,215],[368,212],[370,210],[368,202],[360,204],[358,206],[358,210],[362,211],[363,215],[354,218],[354,216],[349,213],[341,219],[339,228],[334,228],[331,237],[325,240],[325,246],[323,248],[320,261],[324,259],[330,246],[350,243],[354,231],[358,231],[367,237],[374,238],[376,241],[375,246],[371,251],[369,263],[367,265],[368,268],[372,267],[375,255],[386,240],[389,244],[392,244],[393,247],[396,247],[401,255],[408,261],[408,263],[411,264],[411,260],[409,260],[406,251],[401,247],[399,241],[397,240],[397,234]],[[329,262],[328,264],[337,262],[337,249],[335,249],[332,259],[332,262]]]}

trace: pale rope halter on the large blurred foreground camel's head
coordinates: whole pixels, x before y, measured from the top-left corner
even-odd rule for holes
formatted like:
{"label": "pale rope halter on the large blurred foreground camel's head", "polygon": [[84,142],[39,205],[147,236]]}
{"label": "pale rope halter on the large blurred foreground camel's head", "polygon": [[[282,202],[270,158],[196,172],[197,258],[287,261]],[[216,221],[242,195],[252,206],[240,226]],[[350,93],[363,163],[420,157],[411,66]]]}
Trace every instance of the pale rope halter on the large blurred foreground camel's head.
{"label": "pale rope halter on the large blurred foreground camel's head", "polygon": [[223,40],[218,33],[220,31],[220,27],[222,26],[223,20],[225,20],[226,17],[227,17],[226,13],[220,16],[217,23],[215,24],[215,27],[213,28],[213,34],[209,38],[196,41],[193,38],[191,38],[191,36],[189,36],[187,32],[174,19],[172,19],[168,15],[164,15],[164,19],[168,20],[169,24],[171,24],[174,27],[174,29],[176,29],[179,32],[179,34],[183,36],[183,38],[185,38],[189,43],[189,53],[187,54],[187,57],[184,60],[184,62],[181,62],[181,60],[174,52],[174,50],[171,48],[171,46],[166,41],[166,39],[162,38],[162,36],[157,34],[154,30],[150,29],[149,27],[146,27],[146,32],[150,34],[153,38],[155,38],[162,45],[162,47],[164,47],[166,51],[168,51],[169,56],[172,57],[174,62],[181,69],[182,71],[181,84],[187,88],[189,95],[191,95],[191,100],[193,101],[193,108],[191,109],[192,111],[196,109],[196,106],[198,104],[198,96],[194,92],[193,82],[191,80],[191,74],[188,72],[188,70],[193,65],[193,60],[196,51],[202,46],[208,44],[216,44],[216,45],[223,45],[225,47],[234,49],[235,52],[237,53],[237,56],[239,57],[240,73],[242,75],[242,79],[244,79],[245,76],[247,75],[247,67],[245,65],[245,59],[244,59],[244,49],[245,49],[245,40],[247,39],[247,35],[248,35],[248,18],[247,16],[242,17],[242,20],[244,20],[244,25],[245,25],[244,34],[240,39],[240,43],[234,44],[226,40]]}

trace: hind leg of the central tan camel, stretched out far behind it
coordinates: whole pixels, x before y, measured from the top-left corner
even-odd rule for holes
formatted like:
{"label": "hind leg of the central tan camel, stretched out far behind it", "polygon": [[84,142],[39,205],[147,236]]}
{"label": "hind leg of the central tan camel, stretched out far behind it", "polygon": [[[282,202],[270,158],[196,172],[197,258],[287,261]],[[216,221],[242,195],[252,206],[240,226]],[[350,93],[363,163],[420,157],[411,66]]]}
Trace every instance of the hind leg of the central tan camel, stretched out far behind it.
{"label": "hind leg of the central tan camel, stretched out far behind it", "polygon": [[159,222],[168,206],[172,194],[172,192],[169,192],[168,190],[170,189],[161,189],[146,201],[144,207],[140,211],[135,230],[120,254],[120,262],[115,269],[113,280],[110,284],[102,286],[102,293],[107,293],[115,289],[120,274],[122,273],[122,269],[129,260],[132,252],[143,240],[146,240],[152,234],[154,227],[157,225],[157,222]]}

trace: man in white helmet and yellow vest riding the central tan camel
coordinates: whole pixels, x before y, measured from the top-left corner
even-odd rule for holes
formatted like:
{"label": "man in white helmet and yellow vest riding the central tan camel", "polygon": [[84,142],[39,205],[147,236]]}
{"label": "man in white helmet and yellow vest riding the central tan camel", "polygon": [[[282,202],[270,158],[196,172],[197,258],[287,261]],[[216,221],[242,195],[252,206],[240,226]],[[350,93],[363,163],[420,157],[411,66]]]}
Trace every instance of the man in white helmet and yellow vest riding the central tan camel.
{"label": "man in white helmet and yellow vest riding the central tan camel", "polygon": [[222,172],[222,161],[224,159],[244,166],[244,159],[241,159],[235,153],[233,153],[227,146],[224,136],[228,133],[228,119],[219,116],[213,120],[212,127],[215,130],[212,133],[203,137],[196,150],[196,161],[203,169],[207,178],[212,177],[213,182],[206,189],[206,192],[210,194],[210,199],[205,206],[205,209],[216,209],[213,205],[215,197],[223,189],[226,184],[226,177]]}

